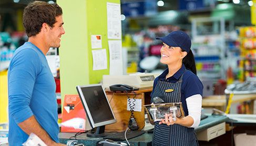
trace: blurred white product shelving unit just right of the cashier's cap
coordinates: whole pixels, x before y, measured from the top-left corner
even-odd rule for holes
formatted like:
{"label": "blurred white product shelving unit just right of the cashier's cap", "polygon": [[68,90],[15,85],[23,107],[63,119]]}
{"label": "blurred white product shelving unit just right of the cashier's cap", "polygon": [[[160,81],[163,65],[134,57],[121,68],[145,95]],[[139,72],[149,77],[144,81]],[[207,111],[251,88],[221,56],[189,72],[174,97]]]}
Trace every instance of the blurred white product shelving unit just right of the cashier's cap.
{"label": "blurred white product shelving unit just right of the cashier's cap", "polygon": [[197,75],[201,80],[217,82],[225,78],[224,39],[223,19],[192,19],[191,49],[196,61]]}

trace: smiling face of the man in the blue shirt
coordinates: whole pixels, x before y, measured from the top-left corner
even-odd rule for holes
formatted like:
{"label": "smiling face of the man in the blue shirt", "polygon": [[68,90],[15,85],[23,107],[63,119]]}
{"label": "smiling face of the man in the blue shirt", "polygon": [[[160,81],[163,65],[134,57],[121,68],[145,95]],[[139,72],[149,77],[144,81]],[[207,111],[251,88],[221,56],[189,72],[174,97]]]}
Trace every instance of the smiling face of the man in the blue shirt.
{"label": "smiling face of the man in the blue shirt", "polygon": [[65,34],[63,24],[64,22],[62,19],[62,15],[56,17],[56,23],[54,24],[54,27],[49,30],[49,47],[60,47],[60,37],[62,37],[62,35]]}

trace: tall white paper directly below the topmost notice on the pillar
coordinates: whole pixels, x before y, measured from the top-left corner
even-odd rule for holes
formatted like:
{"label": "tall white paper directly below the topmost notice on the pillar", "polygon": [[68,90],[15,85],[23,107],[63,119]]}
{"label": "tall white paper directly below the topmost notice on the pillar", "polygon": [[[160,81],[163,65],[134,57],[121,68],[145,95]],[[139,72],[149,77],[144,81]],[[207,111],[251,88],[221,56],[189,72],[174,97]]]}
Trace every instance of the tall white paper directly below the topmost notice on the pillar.
{"label": "tall white paper directly below the topmost notice on the pillar", "polygon": [[109,75],[123,75],[121,40],[109,40]]}

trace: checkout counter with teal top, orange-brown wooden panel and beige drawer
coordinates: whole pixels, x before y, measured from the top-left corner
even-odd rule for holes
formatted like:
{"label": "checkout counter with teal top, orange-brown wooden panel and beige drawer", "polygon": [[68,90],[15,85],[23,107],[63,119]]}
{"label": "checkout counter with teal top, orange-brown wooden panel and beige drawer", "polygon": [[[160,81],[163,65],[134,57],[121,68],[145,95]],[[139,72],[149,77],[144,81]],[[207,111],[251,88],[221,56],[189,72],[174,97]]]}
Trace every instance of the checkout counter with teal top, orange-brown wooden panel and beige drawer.
{"label": "checkout counter with teal top, orange-brown wooden panel and beige drawer", "polygon": [[[147,127],[151,126],[151,124],[146,124],[145,126],[145,112],[143,109],[144,103],[148,104],[150,101],[150,92],[152,89],[144,89],[137,90],[136,95],[138,99],[141,99],[141,112],[135,112],[135,117],[138,120],[138,125],[140,130],[142,127],[147,129]],[[122,105],[126,105],[127,103],[127,93],[112,93],[111,91],[106,91],[107,97],[110,101],[110,105],[112,110],[115,113],[117,118],[117,123],[110,124],[106,126],[107,131],[124,131],[127,128],[128,119],[130,116],[130,112],[127,111],[126,106],[124,108],[120,108],[116,104],[120,102]],[[128,93],[128,96],[132,96],[134,93]],[[148,103],[147,103],[148,102]],[[121,115],[121,116],[120,116]],[[226,133],[225,122],[228,119],[226,116],[219,115],[208,115],[208,118],[201,120],[198,128],[195,129],[198,135],[199,140],[209,141],[220,135]],[[151,126],[152,128],[152,126]],[[144,130],[142,129],[142,130]],[[59,133],[60,143],[67,143],[68,140],[74,140],[74,136],[76,133]],[[76,140],[78,143],[83,143],[85,145],[96,145],[98,141],[104,140],[103,138],[89,138],[86,136],[86,133],[82,133],[76,136]],[[139,135],[138,137],[132,138],[128,140],[131,145],[148,145],[152,142],[152,133],[144,133]],[[126,141],[122,141],[125,142]]]}

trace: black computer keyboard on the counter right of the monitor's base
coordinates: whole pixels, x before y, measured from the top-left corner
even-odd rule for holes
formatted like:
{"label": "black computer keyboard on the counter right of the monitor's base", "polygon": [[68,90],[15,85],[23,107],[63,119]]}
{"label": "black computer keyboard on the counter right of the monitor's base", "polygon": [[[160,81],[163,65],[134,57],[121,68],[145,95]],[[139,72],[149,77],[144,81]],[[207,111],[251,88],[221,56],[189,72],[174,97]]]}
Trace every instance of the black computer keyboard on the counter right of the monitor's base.
{"label": "black computer keyboard on the counter right of the monitor's base", "polygon": [[[145,131],[127,131],[126,138],[127,139],[135,138],[144,133]],[[106,137],[104,137],[104,139],[117,140],[117,141],[125,140],[125,132],[113,133],[113,134],[107,135]]]}

